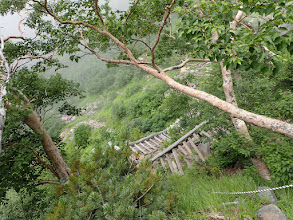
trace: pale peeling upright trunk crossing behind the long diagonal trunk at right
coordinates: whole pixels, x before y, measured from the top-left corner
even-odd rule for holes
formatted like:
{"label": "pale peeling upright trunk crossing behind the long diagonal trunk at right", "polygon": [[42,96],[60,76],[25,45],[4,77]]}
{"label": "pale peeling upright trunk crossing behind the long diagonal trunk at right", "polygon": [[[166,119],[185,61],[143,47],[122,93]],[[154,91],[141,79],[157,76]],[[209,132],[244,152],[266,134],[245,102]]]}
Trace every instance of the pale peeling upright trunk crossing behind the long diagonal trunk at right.
{"label": "pale peeling upright trunk crossing behind the long diagonal trunk at right", "polygon": [[[223,66],[222,62],[220,62],[220,65],[221,65],[221,70],[222,70],[223,89],[224,89],[224,93],[226,96],[226,101],[237,107],[237,101],[236,101],[236,96],[234,93],[231,72],[229,70],[227,70],[225,66]],[[252,141],[252,138],[249,135],[249,132],[248,132],[248,129],[247,129],[245,122],[238,119],[238,118],[235,118],[232,114],[231,114],[231,118],[232,118],[232,121],[233,121],[233,124],[234,124],[234,127],[236,128],[236,130],[238,130],[240,133],[242,133],[246,139]],[[268,167],[266,166],[266,164],[261,159],[261,157],[252,158],[251,160],[252,160],[253,165],[256,167],[259,175],[264,180],[271,180],[270,171],[269,171]]]}

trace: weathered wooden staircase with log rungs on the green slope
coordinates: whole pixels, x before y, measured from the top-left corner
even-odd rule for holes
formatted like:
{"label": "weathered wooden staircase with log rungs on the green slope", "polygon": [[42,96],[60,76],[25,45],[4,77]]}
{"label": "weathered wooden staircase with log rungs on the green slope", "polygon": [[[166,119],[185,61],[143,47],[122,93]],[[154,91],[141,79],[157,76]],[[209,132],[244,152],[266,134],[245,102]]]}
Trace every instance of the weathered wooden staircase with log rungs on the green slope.
{"label": "weathered wooden staircase with log rungs on the green slope", "polygon": [[172,173],[184,174],[183,167],[185,164],[187,167],[191,167],[194,162],[205,162],[206,156],[210,153],[210,141],[213,133],[198,131],[201,126],[210,120],[195,126],[165,149],[162,149],[162,143],[170,140],[168,129],[144,137],[129,145],[136,155],[149,157],[154,167],[162,166]]}

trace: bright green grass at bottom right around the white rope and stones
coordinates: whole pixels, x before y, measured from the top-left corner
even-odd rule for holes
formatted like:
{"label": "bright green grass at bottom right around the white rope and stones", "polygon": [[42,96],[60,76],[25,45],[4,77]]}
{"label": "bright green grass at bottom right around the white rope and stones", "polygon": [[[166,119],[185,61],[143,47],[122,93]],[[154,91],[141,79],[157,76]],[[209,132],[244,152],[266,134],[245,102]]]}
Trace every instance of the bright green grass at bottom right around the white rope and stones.
{"label": "bright green grass at bottom right around the white rope and stones", "polygon": [[[243,174],[220,177],[200,173],[196,168],[184,176],[170,176],[171,190],[180,195],[176,201],[180,219],[210,219],[223,216],[225,219],[256,219],[257,210],[270,202],[258,194],[227,195],[212,192],[242,192],[256,190],[258,186],[251,177]],[[292,218],[292,191],[279,194],[279,207],[289,219]],[[291,196],[291,197],[290,197]],[[239,201],[238,204],[225,204]]]}

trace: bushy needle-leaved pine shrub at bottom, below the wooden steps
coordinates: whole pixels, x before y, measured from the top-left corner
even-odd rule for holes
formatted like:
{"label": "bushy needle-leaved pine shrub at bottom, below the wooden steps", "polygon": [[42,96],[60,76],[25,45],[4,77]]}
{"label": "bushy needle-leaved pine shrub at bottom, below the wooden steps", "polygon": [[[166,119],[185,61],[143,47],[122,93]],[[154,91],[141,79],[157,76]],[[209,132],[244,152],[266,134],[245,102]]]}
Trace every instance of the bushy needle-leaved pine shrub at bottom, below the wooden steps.
{"label": "bushy needle-leaved pine shrub at bottom, below the wooden steps", "polygon": [[137,169],[130,151],[96,149],[93,161],[76,162],[67,185],[47,219],[166,219],[173,210],[173,193],[164,188],[163,175],[145,161]]}

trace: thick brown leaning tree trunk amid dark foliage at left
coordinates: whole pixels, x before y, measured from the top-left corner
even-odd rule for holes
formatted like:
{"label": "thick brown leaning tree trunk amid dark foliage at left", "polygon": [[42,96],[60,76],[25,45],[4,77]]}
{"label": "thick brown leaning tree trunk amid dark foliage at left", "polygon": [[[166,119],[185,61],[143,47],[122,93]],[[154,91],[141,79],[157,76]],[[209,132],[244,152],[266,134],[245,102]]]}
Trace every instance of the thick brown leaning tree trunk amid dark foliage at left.
{"label": "thick brown leaning tree trunk amid dark foliage at left", "polygon": [[70,168],[64,161],[62,155],[60,154],[57,146],[53,142],[51,136],[48,134],[47,130],[42,126],[40,121],[37,119],[34,113],[30,113],[25,119],[24,122],[36,133],[40,134],[41,142],[44,148],[44,151],[53,165],[56,173],[59,176],[61,183],[65,183],[68,180],[70,174]]}

